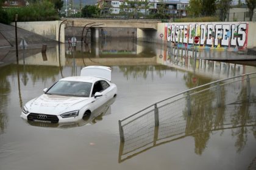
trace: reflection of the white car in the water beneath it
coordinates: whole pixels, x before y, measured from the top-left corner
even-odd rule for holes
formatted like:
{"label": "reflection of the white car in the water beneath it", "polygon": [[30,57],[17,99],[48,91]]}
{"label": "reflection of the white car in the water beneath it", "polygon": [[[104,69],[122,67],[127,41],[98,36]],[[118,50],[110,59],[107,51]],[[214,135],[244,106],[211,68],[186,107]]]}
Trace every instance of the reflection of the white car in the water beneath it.
{"label": "reflection of the white car in the water beneath it", "polygon": [[70,122],[70,123],[44,123],[44,122],[37,122],[37,121],[25,121],[26,123],[30,124],[31,126],[40,126],[40,127],[60,127],[60,128],[68,128],[68,127],[79,127],[84,126],[86,124],[95,124],[98,121],[102,121],[105,115],[111,114],[111,105],[115,102],[116,98],[111,98],[105,104],[103,104],[98,109],[91,112],[90,115],[86,115],[82,118],[82,120],[77,122]]}

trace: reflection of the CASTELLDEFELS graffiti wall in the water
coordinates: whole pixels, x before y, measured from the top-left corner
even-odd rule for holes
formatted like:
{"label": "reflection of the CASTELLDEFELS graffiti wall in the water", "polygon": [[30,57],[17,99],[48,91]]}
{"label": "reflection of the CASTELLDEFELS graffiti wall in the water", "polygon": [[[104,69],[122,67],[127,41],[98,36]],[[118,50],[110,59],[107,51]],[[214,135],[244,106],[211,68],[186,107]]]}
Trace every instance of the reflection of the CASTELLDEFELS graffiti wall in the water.
{"label": "reflection of the CASTELLDEFELS graffiti wall in the water", "polygon": [[[223,63],[202,59],[204,56],[212,55],[211,53],[214,53],[216,56],[226,55],[226,51],[202,50],[200,53],[197,52],[196,54],[194,49],[160,46],[156,53],[157,56],[163,53],[162,58],[157,58],[157,63],[169,67],[176,67],[177,69],[184,70],[186,72],[193,72],[194,84],[197,84],[196,79],[199,76],[212,77],[213,80],[220,80],[228,77],[234,77],[236,75],[242,75],[244,73],[256,72],[255,67],[245,66],[243,64]],[[241,56],[235,53],[229,55],[241,58]]]}

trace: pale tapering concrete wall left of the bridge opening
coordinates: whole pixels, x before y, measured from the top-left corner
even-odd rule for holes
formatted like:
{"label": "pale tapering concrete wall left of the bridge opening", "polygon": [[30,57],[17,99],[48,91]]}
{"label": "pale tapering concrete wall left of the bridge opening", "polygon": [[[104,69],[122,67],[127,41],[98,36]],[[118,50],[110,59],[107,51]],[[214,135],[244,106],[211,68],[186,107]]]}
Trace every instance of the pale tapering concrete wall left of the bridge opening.
{"label": "pale tapering concrete wall left of the bridge opening", "polygon": [[[59,26],[62,21],[17,22],[17,27],[59,41]],[[13,22],[12,25],[15,25]],[[60,29],[60,42],[65,42],[65,24]]]}

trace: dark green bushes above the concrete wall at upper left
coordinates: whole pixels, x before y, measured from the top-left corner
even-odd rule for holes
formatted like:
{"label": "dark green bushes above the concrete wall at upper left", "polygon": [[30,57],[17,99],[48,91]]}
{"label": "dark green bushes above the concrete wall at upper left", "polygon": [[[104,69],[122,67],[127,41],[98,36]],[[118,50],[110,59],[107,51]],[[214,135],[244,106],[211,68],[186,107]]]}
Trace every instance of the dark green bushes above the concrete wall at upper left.
{"label": "dark green bushes above the concrete wall at upper left", "polygon": [[0,9],[0,22],[10,24],[10,22],[15,21],[16,14],[18,14],[18,21],[52,21],[59,19],[54,3],[40,1],[26,7]]}

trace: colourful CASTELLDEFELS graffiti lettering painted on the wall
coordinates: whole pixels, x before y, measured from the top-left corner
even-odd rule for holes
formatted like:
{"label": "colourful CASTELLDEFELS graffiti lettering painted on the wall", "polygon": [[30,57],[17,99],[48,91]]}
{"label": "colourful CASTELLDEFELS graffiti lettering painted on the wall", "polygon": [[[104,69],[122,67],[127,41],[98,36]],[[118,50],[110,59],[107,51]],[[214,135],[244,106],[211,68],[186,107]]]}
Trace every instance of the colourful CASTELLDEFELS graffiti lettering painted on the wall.
{"label": "colourful CASTELLDEFELS graffiti lettering painted on the wall", "polygon": [[[166,23],[165,39],[180,47],[246,49],[247,22]],[[199,38],[197,43],[195,37]]]}

